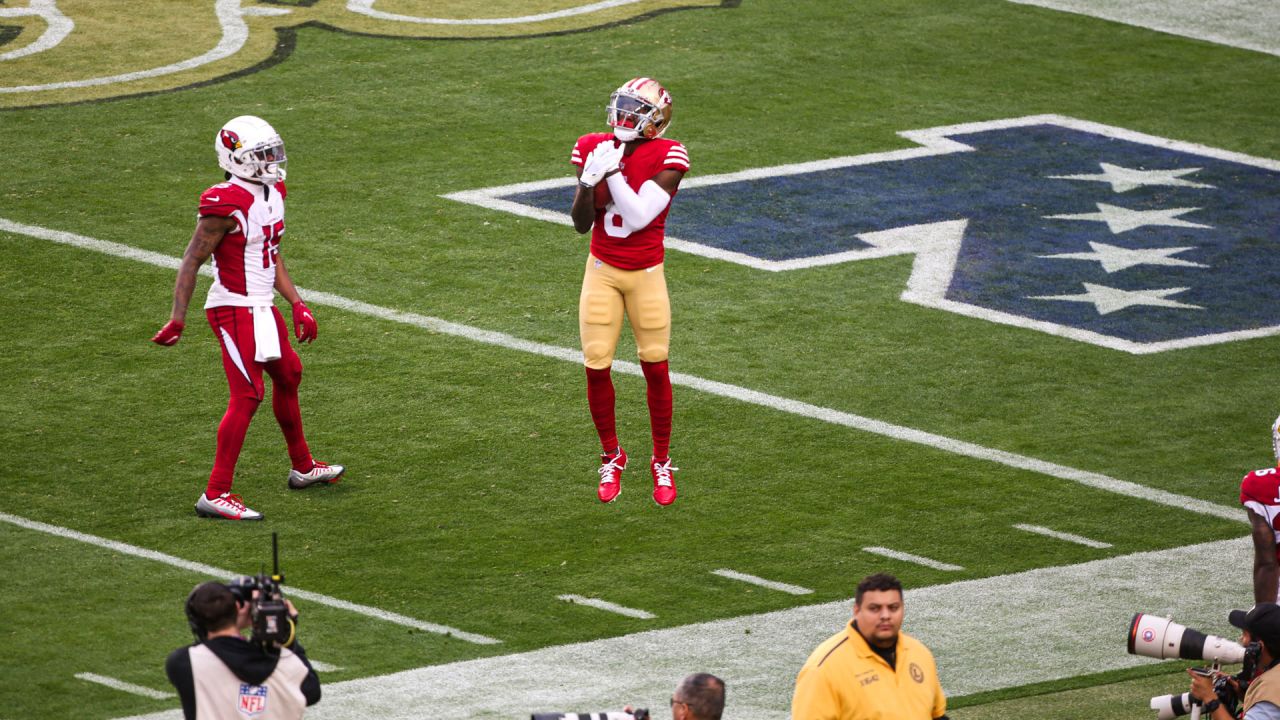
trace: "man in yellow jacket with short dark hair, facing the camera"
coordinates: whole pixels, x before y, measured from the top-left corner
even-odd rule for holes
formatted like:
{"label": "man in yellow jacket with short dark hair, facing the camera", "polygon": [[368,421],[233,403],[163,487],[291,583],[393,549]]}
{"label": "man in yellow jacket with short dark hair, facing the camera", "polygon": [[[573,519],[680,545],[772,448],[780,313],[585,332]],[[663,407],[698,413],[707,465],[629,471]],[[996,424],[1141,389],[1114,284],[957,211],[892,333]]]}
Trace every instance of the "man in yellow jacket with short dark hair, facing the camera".
{"label": "man in yellow jacket with short dark hair, facing the camera", "polygon": [[796,676],[791,720],[945,719],[933,653],[901,629],[902,583],[884,574],[858,583],[852,621]]}

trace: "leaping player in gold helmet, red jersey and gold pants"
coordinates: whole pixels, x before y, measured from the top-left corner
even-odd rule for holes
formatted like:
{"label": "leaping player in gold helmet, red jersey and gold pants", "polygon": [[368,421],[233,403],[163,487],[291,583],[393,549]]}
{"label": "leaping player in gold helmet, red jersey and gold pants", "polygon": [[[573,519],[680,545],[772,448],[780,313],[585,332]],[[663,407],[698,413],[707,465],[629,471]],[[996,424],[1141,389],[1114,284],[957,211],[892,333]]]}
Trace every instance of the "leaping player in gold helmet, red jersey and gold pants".
{"label": "leaping player in gold helmet, red jersey and gold pants", "polygon": [[671,94],[652,78],[635,78],[609,97],[612,133],[584,135],[573,145],[577,167],[573,228],[591,231],[591,249],[579,297],[577,323],[586,363],[586,400],[600,436],[600,502],[621,491],[627,454],[618,445],[609,368],[631,320],[648,386],[653,434],[653,500],[676,501],[671,445],[671,301],[663,275],[663,238],[671,199],[689,172],[685,146],[662,135],[671,126]]}

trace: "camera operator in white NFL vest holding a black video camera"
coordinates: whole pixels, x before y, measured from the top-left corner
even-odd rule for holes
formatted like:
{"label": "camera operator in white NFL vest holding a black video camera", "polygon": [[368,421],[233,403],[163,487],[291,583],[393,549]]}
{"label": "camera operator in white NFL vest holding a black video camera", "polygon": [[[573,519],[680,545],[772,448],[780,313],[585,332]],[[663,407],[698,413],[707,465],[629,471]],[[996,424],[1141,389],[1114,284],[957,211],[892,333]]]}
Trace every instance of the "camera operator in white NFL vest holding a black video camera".
{"label": "camera operator in white NFL vest holding a black video camera", "polygon": [[[252,592],[252,597],[237,597],[230,587],[207,582],[187,597],[187,619],[197,642],[173,651],[165,661],[186,720],[296,720],[306,706],[320,701],[320,678],[292,637],[283,647],[244,639],[259,591]],[[296,621],[293,603],[285,600],[284,605]]]}

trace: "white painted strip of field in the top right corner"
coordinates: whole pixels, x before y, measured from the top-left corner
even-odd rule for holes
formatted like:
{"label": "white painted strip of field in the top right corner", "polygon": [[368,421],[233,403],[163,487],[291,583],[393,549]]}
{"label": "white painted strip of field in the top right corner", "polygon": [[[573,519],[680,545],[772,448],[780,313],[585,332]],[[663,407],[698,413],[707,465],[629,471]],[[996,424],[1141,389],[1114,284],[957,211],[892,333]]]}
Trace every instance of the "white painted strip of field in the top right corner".
{"label": "white painted strip of field in the top right corner", "polygon": [[1134,27],[1280,55],[1280,13],[1272,0],[1009,0]]}

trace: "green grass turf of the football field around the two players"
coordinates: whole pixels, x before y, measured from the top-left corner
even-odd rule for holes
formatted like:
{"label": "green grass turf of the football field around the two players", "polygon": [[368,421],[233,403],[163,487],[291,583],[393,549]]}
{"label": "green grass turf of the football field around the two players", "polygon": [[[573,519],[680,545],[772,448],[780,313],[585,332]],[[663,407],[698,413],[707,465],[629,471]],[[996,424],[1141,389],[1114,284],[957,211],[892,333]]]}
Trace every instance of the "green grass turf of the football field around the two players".
{"label": "green grass turf of the football field around the two players", "polygon": [[[169,65],[219,37],[209,3],[129,3],[129,22],[108,5],[58,3],[76,19],[64,45],[14,59],[4,54],[46,19],[0,14],[0,88]],[[585,241],[442,196],[571,174],[573,141],[603,128],[609,92],[636,76],[675,96],[669,135],[690,150],[690,181],[1037,114],[1280,159],[1280,58],[996,0],[644,1],[509,28],[407,26],[339,3],[243,5],[293,14],[243,15],[243,50],[200,68],[0,94],[0,220],[12,223],[0,227],[0,717],[175,707],[74,675],[169,689],[163,659],[189,639],[182,601],[204,579],[13,519],[233,573],[268,562],[275,532],[292,585],[500,641],[300,601],[310,653],[339,667],[326,684],[840,601],[878,570],[922,588],[1245,534],[1243,511],[1183,510],[689,382],[675,388],[680,500],[659,509],[643,465],[644,383],[623,373],[620,434],[640,461],[618,502],[602,506],[581,366],[480,334],[575,351]],[[489,17],[573,5],[498,3]],[[471,13],[467,3],[378,8]],[[227,392],[198,310],[207,278],[183,341],[160,348],[147,340],[168,316],[172,268],[13,224],[178,258],[198,193],[221,178],[210,141],[246,113],[287,142],[293,279],[387,313],[312,302],[320,334],[300,350],[303,420],[316,456],[349,470],[334,487],[287,491],[288,457],[261,409],[236,492],[266,521],[239,527],[191,507]],[[1272,231],[1275,196],[1260,210]],[[1280,338],[1111,350],[904,302],[911,263],[771,273],[669,251],[672,370],[1221,507],[1235,505],[1244,471],[1271,461]],[[1275,300],[1280,266],[1248,273],[1257,302]],[[635,359],[626,332],[618,359]],[[813,592],[709,574],[721,568]],[[1238,584],[1248,575],[1222,571]],[[589,611],[561,594],[657,616]],[[1225,612],[1251,598],[1222,602]],[[1166,674],[1179,667],[1006,683],[956,698],[952,716],[1144,717],[1147,697],[1185,689]],[[726,679],[726,716],[741,719],[737,679]]]}

